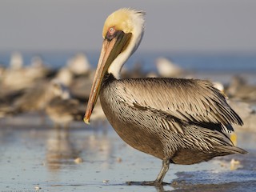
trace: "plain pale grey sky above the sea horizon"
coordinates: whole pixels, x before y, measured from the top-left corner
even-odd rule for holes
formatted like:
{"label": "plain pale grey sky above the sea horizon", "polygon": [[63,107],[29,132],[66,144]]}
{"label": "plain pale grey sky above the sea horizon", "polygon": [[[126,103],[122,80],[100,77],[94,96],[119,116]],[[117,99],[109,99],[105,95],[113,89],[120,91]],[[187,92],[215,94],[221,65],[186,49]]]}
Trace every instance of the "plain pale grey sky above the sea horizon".
{"label": "plain pale grey sky above the sea horizon", "polygon": [[90,51],[107,15],[146,11],[140,50],[256,53],[255,0],[0,0],[0,51]]}

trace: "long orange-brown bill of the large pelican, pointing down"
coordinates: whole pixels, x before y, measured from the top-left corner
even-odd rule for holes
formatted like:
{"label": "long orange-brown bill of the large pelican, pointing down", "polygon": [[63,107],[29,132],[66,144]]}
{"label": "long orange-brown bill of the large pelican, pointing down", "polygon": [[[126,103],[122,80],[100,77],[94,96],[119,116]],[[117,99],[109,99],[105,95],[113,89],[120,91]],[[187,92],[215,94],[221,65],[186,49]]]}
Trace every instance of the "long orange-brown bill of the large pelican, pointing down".
{"label": "long orange-brown bill of the large pelican, pointing down", "polygon": [[86,124],[90,124],[90,115],[94,110],[94,106],[98,99],[100,86],[102,79],[106,74],[107,69],[117,58],[123,50],[126,49],[127,43],[129,43],[131,34],[125,34],[122,31],[117,31],[116,35],[112,39],[104,39],[102,43],[102,51],[98,59],[98,67],[94,76],[94,82],[90,90],[90,98],[87,103],[86,114],[83,118]]}

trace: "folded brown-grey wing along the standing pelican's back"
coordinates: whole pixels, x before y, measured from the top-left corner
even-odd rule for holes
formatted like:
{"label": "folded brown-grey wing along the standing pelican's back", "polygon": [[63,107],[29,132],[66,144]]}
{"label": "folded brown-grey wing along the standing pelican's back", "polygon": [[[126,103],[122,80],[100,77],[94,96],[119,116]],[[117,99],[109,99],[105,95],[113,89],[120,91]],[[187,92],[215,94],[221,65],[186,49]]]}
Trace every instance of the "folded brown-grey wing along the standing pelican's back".
{"label": "folded brown-grey wing along the standing pelican's back", "polygon": [[[230,124],[242,125],[238,114],[211,82],[183,78],[130,78],[118,80],[118,95],[129,106],[158,111],[183,122],[220,124],[223,130],[233,130]],[[169,119],[169,118],[167,118]],[[178,121],[171,124],[182,132]]]}

